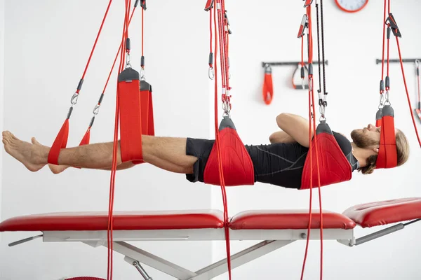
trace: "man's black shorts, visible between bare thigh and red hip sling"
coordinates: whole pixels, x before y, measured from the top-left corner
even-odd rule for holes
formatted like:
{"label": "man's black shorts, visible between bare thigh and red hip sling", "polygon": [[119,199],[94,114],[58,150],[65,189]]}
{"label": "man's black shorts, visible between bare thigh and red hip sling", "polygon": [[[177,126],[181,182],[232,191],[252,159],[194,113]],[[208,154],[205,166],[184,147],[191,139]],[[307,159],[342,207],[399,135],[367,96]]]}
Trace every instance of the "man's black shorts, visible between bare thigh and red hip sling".
{"label": "man's black shorts, visible between bare thigh and red hip sling", "polygon": [[214,143],[215,140],[187,138],[186,154],[198,158],[193,165],[193,174],[186,174],[186,179],[188,181],[192,183],[197,181],[203,183],[203,173],[205,172],[206,162],[208,162],[210,151],[212,151]]}

